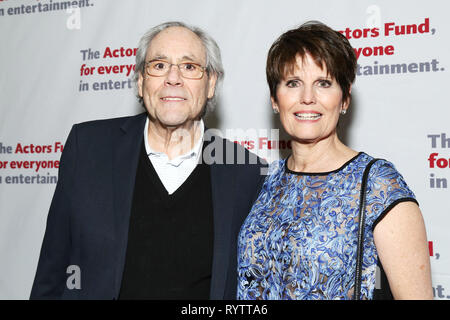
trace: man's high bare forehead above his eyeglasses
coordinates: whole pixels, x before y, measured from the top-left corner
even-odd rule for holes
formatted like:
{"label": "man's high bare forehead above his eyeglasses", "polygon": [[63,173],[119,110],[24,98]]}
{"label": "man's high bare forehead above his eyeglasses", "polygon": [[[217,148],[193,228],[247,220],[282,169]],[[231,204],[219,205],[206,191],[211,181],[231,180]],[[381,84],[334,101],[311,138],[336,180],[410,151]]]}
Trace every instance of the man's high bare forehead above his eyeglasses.
{"label": "man's high bare forehead above his eyeglasses", "polygon": [[158,33],[150,42],[147,60],[195,61],[204,63],[206,51],[200,38],[183,27],[170,27]]}

